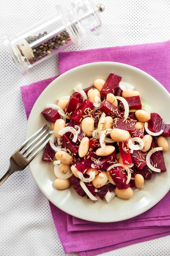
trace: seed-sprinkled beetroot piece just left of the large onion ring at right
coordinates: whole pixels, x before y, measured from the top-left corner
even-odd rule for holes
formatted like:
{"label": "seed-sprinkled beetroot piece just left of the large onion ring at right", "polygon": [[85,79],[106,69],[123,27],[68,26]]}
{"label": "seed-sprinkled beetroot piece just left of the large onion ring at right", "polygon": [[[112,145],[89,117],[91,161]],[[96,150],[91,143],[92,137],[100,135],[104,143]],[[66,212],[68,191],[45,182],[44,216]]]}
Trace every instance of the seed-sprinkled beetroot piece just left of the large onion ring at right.
{"label": "seed-sprinkled beetroot piece just left of the large onion ring at right", "polygon": [[132,162],[135,165],[135,169],[141,170],[146,166],[146,154],[141,152],[141,150],[133,150],[133,153],[131,153]]}

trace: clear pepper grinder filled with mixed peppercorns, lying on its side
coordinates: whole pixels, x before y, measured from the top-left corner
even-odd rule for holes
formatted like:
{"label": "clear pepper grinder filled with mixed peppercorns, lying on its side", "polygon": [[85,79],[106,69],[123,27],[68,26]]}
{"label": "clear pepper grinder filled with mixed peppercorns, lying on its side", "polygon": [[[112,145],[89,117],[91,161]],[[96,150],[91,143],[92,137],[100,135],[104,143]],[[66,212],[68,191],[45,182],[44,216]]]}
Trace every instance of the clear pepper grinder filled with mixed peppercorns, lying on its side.
{"label": "clear pepper grinder filled with mixed peppercorns, lying on its side", "polygon": [[2,39],[22,75],[34,65],[73,44],[79,46],[82,36],[98,35],[102,27],[100,12],[91,0],[75,0],[68,8],[56,5],[51,15],[30,27]]}

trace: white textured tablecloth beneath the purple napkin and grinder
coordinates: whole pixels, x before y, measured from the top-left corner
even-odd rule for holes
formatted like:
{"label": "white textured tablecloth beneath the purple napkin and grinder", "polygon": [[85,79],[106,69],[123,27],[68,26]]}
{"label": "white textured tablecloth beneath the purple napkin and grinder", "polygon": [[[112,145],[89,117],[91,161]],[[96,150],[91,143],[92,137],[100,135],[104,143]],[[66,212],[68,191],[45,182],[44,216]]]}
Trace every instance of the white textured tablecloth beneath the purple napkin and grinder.
{"label": "white textured tablecloth beneath the purple napkin and grinder", "polygon": [[[99,2],[94,1],[96,4]],[[67,7],[71,1],[2,1],[0,35],[20,31],[54,11],[55,4]],[[170,39],[169,0],[104,0],[103,31],[98,37],[84,37],[82,50],[118,45],[160,42]],[[0,41],[0,176],[9,158],[24,141],[26,115],[20,86],[59,74],[58,56],[33,67],[23,77]],[[107,239],[107,238],[106,238]],[[117,249],[103,256],[170,255],[170,236]],[[49,202],[41,193],[29,168],[16,172],[0,187],[0,255],[64,256]],[[76,256],[77,254],[70,254]]]}

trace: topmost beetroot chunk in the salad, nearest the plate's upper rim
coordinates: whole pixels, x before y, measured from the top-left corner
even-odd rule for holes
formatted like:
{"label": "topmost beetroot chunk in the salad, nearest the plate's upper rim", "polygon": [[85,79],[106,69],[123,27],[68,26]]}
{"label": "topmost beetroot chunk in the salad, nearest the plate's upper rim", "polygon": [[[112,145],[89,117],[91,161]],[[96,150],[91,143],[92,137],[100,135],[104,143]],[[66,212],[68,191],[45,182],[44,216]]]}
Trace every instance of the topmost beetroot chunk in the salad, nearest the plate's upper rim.
{"label": "topmost beetroot chunk in the salad, nearest the plate's upper rim", "polygon": [[120,81],[121,76],[110,73],[108,78],[106,79],[106,82],[104,83],[100,94],[106,97],[108,93],[114,93]]}

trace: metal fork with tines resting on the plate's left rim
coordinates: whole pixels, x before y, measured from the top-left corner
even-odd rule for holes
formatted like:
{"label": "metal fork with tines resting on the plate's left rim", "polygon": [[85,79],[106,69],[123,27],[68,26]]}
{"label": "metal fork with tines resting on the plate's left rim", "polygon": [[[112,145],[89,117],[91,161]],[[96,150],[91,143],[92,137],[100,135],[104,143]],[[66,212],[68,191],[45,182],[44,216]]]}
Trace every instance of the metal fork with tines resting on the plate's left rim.
{"label": "metal fork with tines resting on the plate's left rim", "polygon": [[0,186],[15,171],[23,171],[26,166],[40,153],[50,139],[49,127],[42,126],[27,139],[9,159],[9,169],[0,179]]}

